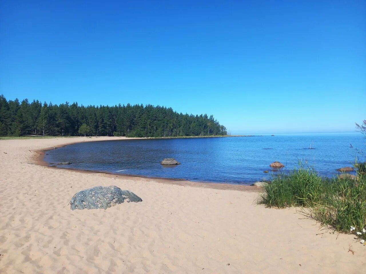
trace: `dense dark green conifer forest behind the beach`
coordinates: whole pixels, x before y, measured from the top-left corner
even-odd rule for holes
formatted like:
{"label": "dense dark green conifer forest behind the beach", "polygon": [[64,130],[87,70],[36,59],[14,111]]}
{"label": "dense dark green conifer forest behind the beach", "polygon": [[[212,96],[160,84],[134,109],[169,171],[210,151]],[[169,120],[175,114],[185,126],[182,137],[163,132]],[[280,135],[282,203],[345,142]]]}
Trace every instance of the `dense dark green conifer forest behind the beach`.
{"label": "dense dark green conifer forest behind the beach", "polygon": [[205,115],[177,113],[171,108],[135,104],[79,106],[0,96],[0,136],[174,137],[226,135],[217,120]]}

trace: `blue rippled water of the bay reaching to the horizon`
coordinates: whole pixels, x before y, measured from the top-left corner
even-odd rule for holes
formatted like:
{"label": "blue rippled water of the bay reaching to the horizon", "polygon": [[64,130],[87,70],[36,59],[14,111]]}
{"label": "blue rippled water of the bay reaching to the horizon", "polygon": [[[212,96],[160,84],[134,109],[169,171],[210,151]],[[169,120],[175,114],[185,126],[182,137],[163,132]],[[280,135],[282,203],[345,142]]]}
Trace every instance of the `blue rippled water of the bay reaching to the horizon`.
{"label": "blue rippled water of the bay reaching to the horizon", "polygon": [[[300,160],[320,175],[332,176],[338,174],[337,168],[350,166],[355,157],[364,161],[361,150],[366,152],[366,139],[360,133],[277,134],[84,142],[48,151],[45,161],[70,161],[60,167],[83,170],[246,184],[270,179],[269,164],[275,160],[285,165],[281,172],[292,170]],[[171,157],[181,164],[160,165]]]}

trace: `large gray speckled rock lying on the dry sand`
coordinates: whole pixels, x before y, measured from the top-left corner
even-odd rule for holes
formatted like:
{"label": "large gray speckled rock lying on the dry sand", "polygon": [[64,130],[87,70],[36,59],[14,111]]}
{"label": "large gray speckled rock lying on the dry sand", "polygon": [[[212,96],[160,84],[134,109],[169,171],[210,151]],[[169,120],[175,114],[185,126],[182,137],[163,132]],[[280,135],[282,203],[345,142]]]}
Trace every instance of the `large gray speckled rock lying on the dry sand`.
{"label": "large gray speckled rock lying on the dry sand", "polygon": [[116,186],[96,186],[81,190],[71,198],[70,208],[107,209],[123,202],[142,202],[142,199],[128,190]]}

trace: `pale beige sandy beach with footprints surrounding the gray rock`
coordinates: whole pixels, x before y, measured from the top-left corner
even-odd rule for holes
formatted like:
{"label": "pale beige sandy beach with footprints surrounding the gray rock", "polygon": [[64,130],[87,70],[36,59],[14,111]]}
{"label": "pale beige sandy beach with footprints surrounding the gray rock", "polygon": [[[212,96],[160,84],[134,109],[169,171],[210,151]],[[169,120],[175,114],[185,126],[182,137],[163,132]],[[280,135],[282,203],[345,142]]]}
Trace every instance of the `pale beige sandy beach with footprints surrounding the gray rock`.
{"label": "pale beige sandy beach with footprints surrounding the gray rock", "polygon": [[[352,235],[256,205],[255,191],[34,164],[39,149],[108,139],[0,140],[0,273],[365,273]],[[143,202],[70,210],[72,195],[99,185]]]}

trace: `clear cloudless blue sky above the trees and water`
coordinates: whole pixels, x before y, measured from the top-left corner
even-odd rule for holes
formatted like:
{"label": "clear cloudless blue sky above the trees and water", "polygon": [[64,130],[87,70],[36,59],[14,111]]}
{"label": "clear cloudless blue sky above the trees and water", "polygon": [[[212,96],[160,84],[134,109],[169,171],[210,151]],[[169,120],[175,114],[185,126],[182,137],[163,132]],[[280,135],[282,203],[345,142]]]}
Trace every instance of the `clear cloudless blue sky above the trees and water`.
{"label": "clear cloudless blue sky above the trees and water", "polygon": [[0,94],[159,104],[232,133],[355,130],[366,1],[245,2],[2,0]]}

